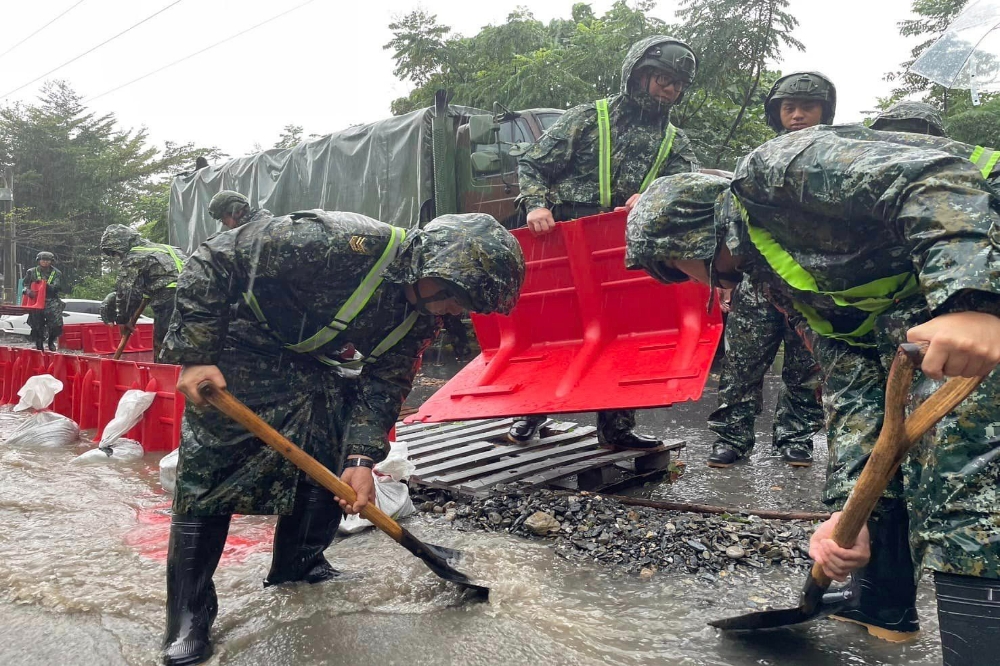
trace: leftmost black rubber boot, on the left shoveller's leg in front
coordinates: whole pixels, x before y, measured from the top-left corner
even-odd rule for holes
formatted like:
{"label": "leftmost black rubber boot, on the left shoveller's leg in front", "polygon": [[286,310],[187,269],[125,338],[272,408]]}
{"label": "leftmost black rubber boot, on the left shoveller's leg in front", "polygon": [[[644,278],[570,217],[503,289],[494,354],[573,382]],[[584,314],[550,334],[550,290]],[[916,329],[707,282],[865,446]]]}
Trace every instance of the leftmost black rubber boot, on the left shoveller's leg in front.
{"label": "leftmost black rubber boot, on the left shoveller's leg in front", "polygon": [[231,516],[175,515],[167,550],[167,666],[200,664],[212,656],[209,633],[219,612],[212,576],[222,557]]}

